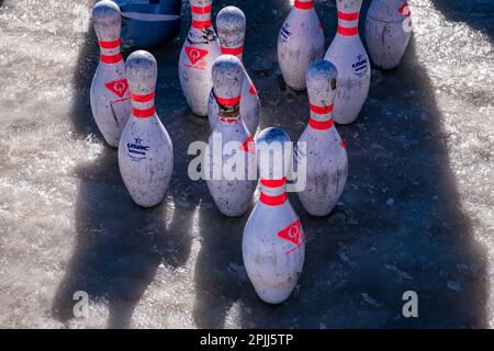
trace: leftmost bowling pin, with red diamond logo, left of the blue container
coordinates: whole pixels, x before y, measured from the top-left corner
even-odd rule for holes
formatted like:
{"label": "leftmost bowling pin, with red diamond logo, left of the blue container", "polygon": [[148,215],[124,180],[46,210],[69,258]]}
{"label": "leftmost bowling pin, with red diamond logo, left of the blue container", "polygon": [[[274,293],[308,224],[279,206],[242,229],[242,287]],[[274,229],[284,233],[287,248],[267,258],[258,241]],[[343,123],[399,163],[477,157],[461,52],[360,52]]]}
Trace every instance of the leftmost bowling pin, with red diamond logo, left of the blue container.
{"label": "leftmost bowling pin, with red diamond logo, left of the blue container", "polygon": [[102,0],[92,9],[92,22],[101,55],[91,83],[91,111],[106,143],[117,147],[131,115],[125,63],[120,53],[122,14],[113,1]]}

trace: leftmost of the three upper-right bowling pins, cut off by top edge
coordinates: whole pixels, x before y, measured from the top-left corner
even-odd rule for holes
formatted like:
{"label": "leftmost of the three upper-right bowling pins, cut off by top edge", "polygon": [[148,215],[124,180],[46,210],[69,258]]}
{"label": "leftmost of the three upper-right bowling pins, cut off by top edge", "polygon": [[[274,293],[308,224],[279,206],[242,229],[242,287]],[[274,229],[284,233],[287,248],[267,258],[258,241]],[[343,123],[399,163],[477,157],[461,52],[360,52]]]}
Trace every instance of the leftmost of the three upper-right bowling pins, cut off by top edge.
{"label": "leftmost of the three upper-right bowling pins, cut off by top edge", "polygon": [[305,89],[305,71],[324,55],[324,32],[314,0],[295,0],[278,35],[278,63],[293,90]]}

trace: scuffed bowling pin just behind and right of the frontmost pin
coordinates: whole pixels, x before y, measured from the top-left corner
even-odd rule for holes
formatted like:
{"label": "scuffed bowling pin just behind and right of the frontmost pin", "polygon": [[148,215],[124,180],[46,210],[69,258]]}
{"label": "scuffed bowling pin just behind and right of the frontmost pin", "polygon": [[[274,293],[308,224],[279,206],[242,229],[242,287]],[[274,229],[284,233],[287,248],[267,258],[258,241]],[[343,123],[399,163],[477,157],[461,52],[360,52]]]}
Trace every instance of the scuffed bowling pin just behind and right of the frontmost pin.
{"label": "scuffed bowling pin just behind and right of the frontmost pin", "polygon": [[295,160],[306,165],[306,173],[299,174],[305,177],[305,189],[299,192],[299,199],[313,216],[328,215],[347,182],[347,150],[332,118],[337,77],[336,67],[326,60],[307,70],[311,116],[297,144],[305,143],[305,149],[296,150]]}

